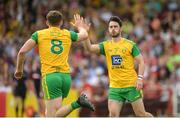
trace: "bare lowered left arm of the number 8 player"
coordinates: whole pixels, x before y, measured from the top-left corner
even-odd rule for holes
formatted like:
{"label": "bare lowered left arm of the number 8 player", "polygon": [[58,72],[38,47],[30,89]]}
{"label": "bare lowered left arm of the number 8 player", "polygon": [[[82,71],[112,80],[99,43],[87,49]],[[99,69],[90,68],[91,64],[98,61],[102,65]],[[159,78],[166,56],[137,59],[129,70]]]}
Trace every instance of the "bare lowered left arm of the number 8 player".
{"label": "bare lowered left arm of the number 8 player", "polygon": [[29,52],[32,48],[34,48],[36,42],[32,39],[26,41],[23,47],[20,49],[17,55],[17,64],[16,64],[16,71],[15,71],[15,78],[21,79],[23,75],[23,66],[25,61],[25,54]]}

